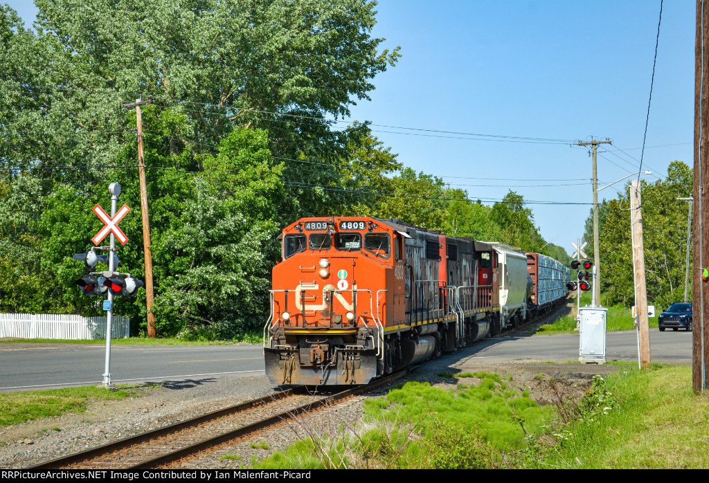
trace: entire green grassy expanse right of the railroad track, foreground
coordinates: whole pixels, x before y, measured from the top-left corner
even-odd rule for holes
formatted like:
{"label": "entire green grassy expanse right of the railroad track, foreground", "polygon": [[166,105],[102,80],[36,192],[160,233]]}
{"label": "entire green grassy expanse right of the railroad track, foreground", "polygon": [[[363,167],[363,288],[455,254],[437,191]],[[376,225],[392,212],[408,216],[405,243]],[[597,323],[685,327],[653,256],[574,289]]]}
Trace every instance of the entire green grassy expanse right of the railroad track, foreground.
{"label": "entire green grassy expanse right of the railroad track, foreground", "polygon": [[[365,419],[337,435],[306,431],[258,469],[287,468],[705,468],[709,394],[691,368],[632,363],[593,377],[579,399],[538,407],[500,377],[481,374],[442,390],[409,382],[368,400]],[[449,377],[445,373],[443,377]],[[476,377],[476,376],[474,376]],[[549,384],[559,382],[549,380]]]}

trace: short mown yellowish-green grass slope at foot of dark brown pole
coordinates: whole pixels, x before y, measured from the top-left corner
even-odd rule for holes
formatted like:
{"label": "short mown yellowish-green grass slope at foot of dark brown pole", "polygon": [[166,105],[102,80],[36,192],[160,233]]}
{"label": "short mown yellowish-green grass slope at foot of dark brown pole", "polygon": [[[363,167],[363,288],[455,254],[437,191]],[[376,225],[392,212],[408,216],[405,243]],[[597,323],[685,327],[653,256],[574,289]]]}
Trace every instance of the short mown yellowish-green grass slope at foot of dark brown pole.
{"label": "short mown yellowish-green grass slope at foot of dark brown pole", "polygon": [[540,467],[709,467],[709,394],[693,394],[691,368],[625,370],[607,388],[618,405],[567,426]]}

